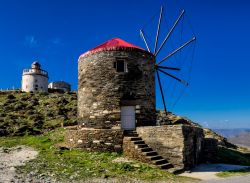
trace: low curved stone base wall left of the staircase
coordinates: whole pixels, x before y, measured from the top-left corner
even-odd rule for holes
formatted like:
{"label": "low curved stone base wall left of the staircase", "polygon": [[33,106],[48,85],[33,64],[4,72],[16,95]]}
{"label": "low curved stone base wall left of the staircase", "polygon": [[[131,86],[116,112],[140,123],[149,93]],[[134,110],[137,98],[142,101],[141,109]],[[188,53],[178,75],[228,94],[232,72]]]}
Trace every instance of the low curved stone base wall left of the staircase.
{"label": "low curved stone base wall left of the staircase", "polygon": [[122,152],[123,130],[69,128],[65,134],[65,145],[88,151]]}

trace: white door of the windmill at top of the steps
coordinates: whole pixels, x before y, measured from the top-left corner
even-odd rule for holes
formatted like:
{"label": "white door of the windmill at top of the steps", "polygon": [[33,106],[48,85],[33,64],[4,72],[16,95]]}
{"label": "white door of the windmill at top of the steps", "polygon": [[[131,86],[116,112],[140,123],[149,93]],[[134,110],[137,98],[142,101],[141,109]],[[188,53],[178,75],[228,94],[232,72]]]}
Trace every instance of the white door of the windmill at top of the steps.
{"label": "white door of the windmill at top of the steps", "polygon": [[135,106],[121,107],[121,121],[122,121],[122,129],[124,130],[135,129]]}

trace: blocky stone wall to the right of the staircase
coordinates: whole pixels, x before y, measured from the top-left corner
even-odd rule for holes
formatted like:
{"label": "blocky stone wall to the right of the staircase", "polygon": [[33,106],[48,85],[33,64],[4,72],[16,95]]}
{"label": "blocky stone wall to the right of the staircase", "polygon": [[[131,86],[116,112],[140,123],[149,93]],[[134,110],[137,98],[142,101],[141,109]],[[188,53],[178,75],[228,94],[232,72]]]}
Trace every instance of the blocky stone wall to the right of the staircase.
{"label": "blocky stone wall to the right of the staircase", "polygon": [[152,149],[174,165],[175,169],[189,169],[201,157],[203,130],[188,125],[138,127],[139,136]]}

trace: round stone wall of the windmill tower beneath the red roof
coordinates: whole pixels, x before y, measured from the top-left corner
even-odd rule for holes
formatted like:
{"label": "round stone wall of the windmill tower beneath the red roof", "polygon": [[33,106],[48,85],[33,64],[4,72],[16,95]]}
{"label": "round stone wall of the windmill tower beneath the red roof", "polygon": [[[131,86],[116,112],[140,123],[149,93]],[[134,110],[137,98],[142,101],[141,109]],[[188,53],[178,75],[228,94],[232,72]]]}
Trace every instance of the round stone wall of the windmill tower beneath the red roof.
{"label": "round stone wall of the windmill tower beneath the red roof", "polygon": [[[128,72],[114,63],[124,59]],[[86,127],[119,126],[121,106],[136,106],[136,126],[155,125],[155,58],[140,50],[102,51],[78,62],[78,121]]]}

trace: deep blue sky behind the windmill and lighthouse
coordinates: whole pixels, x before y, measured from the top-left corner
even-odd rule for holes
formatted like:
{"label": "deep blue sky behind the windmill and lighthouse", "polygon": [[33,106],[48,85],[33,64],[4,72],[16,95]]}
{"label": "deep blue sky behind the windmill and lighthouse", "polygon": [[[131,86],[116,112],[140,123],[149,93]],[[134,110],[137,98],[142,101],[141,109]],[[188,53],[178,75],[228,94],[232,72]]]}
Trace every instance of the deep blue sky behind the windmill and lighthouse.
{"label": "deep blue sky behind the windmill and lighthouse", "polygon": [[[142,27],[152,44],[161,4],[163,37],[182,8],[185,38],[191,29],[197,36],[190,86],[176,105],[171,103],[181,88],[165,88],[167,108],[210,128],[250,127],[250,2],[245,0],[0,0],[0,88],[20,87],[22,69],[39,60],[50,81],[65,80],[76,89],[79,55],[113,37],[145,48]],[[159,56],[171,51],[165,49]],[[168,86],[169,80],[162,80]],[[170,93],[176,96],[167,97]],[[162,108],[159,92],[157,107]]]}

